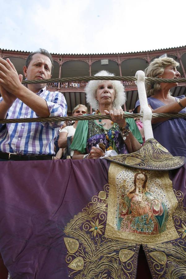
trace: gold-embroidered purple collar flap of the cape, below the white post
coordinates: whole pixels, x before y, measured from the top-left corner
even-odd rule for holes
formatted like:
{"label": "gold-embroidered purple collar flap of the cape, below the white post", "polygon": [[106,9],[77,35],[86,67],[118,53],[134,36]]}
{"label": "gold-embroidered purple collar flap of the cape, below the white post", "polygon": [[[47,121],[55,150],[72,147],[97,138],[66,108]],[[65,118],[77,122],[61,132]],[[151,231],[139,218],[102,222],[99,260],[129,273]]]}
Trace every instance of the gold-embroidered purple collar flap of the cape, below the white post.
{"label": "gold-embroidered purple collar flap of the cape, below the white post", "polygon": [[109,157],[107,160],[148,170],[171,170],[185,163],[184,157],[172,156],[156,139],[146,140],[136,152]]}

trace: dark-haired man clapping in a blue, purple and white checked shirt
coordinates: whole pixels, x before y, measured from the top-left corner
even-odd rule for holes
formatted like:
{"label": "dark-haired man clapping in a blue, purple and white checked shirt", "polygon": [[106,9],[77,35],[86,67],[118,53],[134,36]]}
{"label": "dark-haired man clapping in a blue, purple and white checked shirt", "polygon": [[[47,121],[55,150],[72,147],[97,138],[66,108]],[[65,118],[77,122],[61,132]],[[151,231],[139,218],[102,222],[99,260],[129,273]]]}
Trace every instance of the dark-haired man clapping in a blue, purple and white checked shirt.
{"label": "dark-haired man clapping in a blue, purple and white checked shirt", "polygon": [[[23,68],[28,80],[51,78],[53,60],[44,49],[31,53]],[[67,104],[60,92],[45,84],[21,84],[9,59],[0,58],[0,119],[66,116]],[[51,160],[54,141],[63,122],[0,124],[0,161]]]}

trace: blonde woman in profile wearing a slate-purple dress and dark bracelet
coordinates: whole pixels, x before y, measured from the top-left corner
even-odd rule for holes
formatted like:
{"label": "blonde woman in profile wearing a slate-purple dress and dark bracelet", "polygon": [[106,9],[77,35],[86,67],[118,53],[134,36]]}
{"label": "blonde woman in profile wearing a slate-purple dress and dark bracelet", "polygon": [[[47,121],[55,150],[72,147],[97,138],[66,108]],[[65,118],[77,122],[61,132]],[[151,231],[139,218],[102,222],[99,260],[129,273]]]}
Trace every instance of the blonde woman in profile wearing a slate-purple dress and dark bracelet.
{"label": "blonde woman in profile wearing a slate-purple dress and dark bracelet", "polygon": [[[173,83],[151,82],[145,83],[148,105],[153,113],[186,113],[186,97],[173,97],[170,89],[178,86],[176,79],[180,73],[176,67],[179,63],[170,57],[153,60],[145,76],[151,78],[175,78]],[[135,112],[140,112],[139,100],[135,105]],[[173,156],[186,156],[186,120],[184,118],[152,119],[154,138],[162,144]]]}

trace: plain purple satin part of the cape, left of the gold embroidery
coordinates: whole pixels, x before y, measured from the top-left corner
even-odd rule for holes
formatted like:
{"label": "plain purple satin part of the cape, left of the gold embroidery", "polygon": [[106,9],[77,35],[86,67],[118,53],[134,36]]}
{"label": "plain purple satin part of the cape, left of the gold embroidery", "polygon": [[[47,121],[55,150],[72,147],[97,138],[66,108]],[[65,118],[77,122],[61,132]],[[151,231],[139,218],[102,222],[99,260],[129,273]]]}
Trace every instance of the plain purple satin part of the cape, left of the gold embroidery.
{"label": "plain purple satin part of the cape, left of the gold embroidery", "polygon": [[0,162],[2,258],[15,279],[68,278],[64,226],[108,183],[110,163],[26,163]]}

